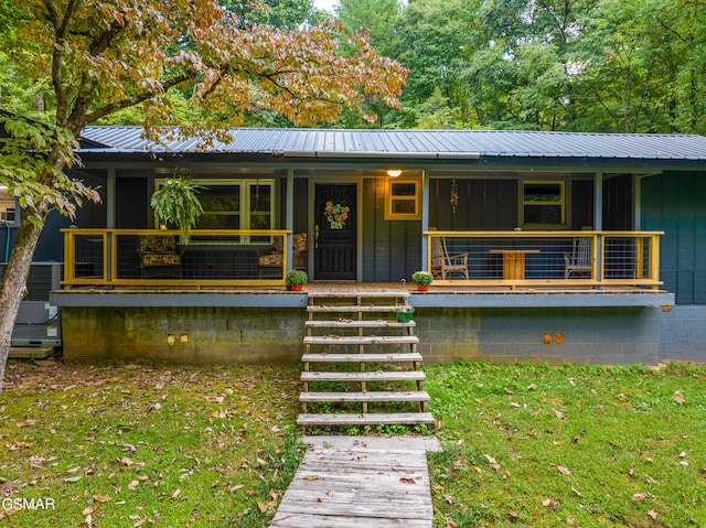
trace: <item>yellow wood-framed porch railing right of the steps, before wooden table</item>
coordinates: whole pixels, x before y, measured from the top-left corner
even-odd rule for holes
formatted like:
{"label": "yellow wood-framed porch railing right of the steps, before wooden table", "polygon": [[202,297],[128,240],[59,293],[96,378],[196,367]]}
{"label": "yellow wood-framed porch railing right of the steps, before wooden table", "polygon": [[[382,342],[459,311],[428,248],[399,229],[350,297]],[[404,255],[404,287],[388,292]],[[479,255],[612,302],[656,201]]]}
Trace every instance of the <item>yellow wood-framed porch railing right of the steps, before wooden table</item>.
{"label": "yellow wood-framed porch railing right of the steps, before wooden table", "polygon": [[425,231],[435,284],[657,288],[663,231]]}

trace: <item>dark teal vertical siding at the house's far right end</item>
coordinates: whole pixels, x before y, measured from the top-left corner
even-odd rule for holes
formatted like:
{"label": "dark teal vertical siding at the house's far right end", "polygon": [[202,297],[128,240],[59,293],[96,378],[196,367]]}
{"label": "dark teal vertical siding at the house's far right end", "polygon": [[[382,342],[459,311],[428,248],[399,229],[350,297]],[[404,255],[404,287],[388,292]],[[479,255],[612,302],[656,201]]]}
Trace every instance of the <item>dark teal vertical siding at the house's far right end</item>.
{"label": "dark teal vertical siding at the house's far right end", "polygon": [[663,230],[660,276],[677,304],[706,304],[706,173],[642,182],[642,229]]}

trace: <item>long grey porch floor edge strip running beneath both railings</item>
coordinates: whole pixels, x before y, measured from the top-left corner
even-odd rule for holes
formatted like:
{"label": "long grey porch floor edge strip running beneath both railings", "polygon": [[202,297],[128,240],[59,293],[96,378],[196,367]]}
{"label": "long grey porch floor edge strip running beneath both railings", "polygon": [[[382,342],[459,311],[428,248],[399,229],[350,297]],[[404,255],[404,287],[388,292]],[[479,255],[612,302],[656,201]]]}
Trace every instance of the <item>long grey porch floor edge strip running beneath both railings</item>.
{"label": "long grey porch floor edge strip running beneath both railings", "polygon": [[74,287],[53,291],[50,302],[57,306],[248,306],[304,308],[309,293],[406,291],[416,308],[556,308],[556,306],[668,306],[674,293],[625,285],[515,287],[431,284],[418,292],[406,282],[309,282],[302,292],[286,287]]}

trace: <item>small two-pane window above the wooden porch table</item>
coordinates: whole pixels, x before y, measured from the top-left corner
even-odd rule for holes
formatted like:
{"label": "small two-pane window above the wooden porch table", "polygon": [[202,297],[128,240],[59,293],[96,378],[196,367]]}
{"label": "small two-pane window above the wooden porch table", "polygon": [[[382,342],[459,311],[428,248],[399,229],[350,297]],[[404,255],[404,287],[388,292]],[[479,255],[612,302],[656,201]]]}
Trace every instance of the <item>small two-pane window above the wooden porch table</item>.
{"label": "small two-pane window above the wooden porch table", "polygon": [[522,224],[549,227],[566,224],[564,182],[522,183]]}

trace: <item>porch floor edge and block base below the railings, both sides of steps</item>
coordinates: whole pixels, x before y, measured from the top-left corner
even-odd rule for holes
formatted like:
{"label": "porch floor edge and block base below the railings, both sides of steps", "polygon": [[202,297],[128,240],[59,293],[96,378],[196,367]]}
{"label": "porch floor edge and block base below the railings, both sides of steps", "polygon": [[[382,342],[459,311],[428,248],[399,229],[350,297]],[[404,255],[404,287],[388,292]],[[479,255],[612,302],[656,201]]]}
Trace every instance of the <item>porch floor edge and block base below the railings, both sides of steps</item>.
{"label": "porch floor edge and block base below the railings, both sides of steps", "polygon": [[[261,365],[299,363],[309,294],[408,294],[425,363],[457,360],[654,365],[663,306],[651,290],[472,288],[416,292],[404,283],[309,283],[186,289],[82,287],[55,291],[67,362]],[[661,306],[662,305],[662,306]]]}

